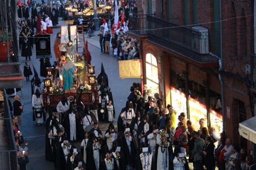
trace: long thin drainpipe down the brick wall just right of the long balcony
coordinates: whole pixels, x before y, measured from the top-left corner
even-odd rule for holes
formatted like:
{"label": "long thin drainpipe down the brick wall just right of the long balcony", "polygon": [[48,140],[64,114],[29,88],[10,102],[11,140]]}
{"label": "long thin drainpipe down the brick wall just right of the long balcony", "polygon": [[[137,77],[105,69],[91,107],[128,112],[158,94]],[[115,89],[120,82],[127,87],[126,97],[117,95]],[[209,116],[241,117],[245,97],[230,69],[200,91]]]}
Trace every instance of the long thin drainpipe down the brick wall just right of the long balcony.
{"label": "long thin drainpipe down the brick wall just right of the long balcony", "polygon": [[[219,0],[220,6],[220,55],[221,59],[219,60],[220,70],[223,71],[223,43],[222,43],[222,0]],[[225,122],[225,103],[224,103],[224,80],[223,75],[219,74],[220,81],[221,81],[221,91],[222,91],[222,118],[223,118],[223,136],[226,135],[226,122]]]}

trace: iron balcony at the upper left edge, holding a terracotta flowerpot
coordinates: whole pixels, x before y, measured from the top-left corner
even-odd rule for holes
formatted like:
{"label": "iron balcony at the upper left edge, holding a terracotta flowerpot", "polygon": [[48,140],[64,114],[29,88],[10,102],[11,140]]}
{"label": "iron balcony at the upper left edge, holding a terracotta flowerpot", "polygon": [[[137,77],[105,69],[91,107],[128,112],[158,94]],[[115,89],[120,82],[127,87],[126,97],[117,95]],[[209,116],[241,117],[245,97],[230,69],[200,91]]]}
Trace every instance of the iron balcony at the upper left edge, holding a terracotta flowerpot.
{"label": "iron balcony at the upper left edge, holding a terracotta flowerpot", "polygon": [[[0,1],[0,25],[2,32],[11,32],[13,41],[11,42],[11,53],[7,49],[6,60],[0,61],[0,89],[5,88],[21,88],[24,76],[21,71],[19,62],[19,46],[18,46],[18,17],[17,17],[16,0]],[[7,31],[6,31],[7,30]],[[9,36],[7,34],[7,41]],[[2,55],[5,57],[5,55]]]}

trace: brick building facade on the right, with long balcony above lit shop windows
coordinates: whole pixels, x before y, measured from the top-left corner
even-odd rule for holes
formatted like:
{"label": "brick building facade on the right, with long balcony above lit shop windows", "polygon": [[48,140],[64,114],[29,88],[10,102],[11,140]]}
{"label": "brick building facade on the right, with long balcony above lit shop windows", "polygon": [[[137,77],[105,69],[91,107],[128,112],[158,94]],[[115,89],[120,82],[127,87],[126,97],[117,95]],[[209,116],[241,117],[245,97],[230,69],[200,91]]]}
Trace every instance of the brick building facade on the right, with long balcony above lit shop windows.
{"label": "brick building facade on the right, with long balcony above lit shop windows", "polygon": [[[251,54],[255,54],[255,2],[222,0],[220,5],[219,0],[138,0],[137,3],[138,15],[146,18],[139,22],[146,22],[147,32],[140,34],[131,30],[130,35],[140,38],[143,83],[148,84],[150,80],[146,71],[150,54],[157,60],[159,93],[164,105],[173,104],[173,87],[185,94],[184,105],[189,117],[195,116],[192,115],[195,112],[190,111],[190,97],[205,106],[205,118],[211,126],[210,108],[222,99],[221,73],[226,136],[250,149],[250,142],[239,138],[238,128],[240,122],[254,115],[254,104],[250,100],[254,97],[250,92],[250,88],[254,88],[253,73],[250,74],[246,66],[254,66]],[[208,31],[204,44],[208,53],[196,51],[198,47],[193,45],[196,33],[192,29],[198,26]],[[181,42],[176,41],[179,39]],[[199,41],[200,46],[201,39]],[[222,71],[219,71],[219,60]]]}

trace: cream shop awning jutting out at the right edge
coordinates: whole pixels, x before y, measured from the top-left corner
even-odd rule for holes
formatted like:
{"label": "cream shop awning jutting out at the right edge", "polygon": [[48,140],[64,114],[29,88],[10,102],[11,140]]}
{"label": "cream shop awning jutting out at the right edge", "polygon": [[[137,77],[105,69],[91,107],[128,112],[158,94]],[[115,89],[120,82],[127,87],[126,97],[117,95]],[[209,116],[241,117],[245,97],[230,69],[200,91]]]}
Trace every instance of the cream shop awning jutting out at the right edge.
{"label": "cream shop awning jutting out at the right edge", "polygon": [[256,143],[256,116],[239,123],[239,134]]}

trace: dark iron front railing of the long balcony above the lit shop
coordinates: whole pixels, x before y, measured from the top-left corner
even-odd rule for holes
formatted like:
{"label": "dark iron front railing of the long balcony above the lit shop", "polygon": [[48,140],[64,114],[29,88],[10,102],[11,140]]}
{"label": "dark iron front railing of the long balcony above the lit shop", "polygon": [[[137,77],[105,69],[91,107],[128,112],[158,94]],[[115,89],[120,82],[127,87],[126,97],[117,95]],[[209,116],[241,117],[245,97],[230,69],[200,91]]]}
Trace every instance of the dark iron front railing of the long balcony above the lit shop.
{"label": "dark iron front railing of the long balcony above the lit shop", "polygon": [[209,41],[208,36],[202,36],[202,32],[181,27],[152,16],[147,16],[147,23],[148,40],[199,62],[218,61],[218,58],[213,55],[202,53],[202,48],[208,49]]}

